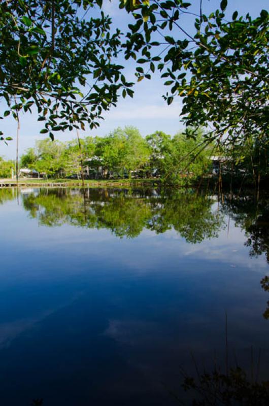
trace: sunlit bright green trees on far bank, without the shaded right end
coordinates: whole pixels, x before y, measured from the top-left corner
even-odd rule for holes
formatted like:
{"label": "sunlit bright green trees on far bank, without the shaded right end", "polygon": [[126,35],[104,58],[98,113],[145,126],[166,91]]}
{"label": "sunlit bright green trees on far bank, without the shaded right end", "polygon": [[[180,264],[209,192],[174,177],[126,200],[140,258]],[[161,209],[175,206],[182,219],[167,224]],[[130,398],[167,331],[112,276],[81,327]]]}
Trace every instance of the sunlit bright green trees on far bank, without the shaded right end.
{"label": "sunlit bright green trees on far bank, without the shaded right end", "polygon": [[[20,160],[20,167],[34,168],[51,177],[76,174],[89,178],[160,177],[169,180],[198,177],[210,171],[210,149],[198,151],[195,140],[184,133],[171,137],[161,131],[143,138],[135,127],[116,128],[106,137],[85,137],[70,142],[37,141]],[[199,152],[199,153],[198,153]]]}

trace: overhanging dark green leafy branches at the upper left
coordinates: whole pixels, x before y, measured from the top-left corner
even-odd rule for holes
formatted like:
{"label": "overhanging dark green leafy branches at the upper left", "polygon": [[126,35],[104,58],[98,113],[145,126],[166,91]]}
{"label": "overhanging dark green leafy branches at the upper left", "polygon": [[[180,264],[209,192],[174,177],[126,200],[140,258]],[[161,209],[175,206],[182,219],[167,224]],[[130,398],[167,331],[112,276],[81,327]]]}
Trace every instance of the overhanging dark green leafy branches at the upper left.
{"label": "overhanging dark green leafy branches at the upper left", "polygon": [[[102,0],[11,0],[0,4],[0,98],[19,120],[37,107],[42,133],[98,125],[119,90],[132,95],[122,66],[120,30]],[[99,10],[99,11],[98,11]],[[2,139],[3,133],[1,133]],[[7,139],[7,138],[6,138]]]}

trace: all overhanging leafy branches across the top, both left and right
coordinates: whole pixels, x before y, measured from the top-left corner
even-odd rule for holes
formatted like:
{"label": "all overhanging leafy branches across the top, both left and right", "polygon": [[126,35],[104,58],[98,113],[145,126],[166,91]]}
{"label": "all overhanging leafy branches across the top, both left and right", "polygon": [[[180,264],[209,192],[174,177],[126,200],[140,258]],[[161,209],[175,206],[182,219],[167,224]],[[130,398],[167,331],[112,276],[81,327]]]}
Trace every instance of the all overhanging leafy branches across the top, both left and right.
{"label": "all overhanging leafy branches across the top, both left and right", "polygon": [[[102,0],[42,2],[12,0],[0,5],[0,96],[18,119],[21,109],[38,108],[42,132],[98,125],[119,91],[132,96],[131,83],[114,63],[123,46],[137,60],[137,79],[159,70],[170,87],[164,97],[183,97],[182,120],[195,130],[207,127],[209,139],[233,145],[249,137],[268,142],[268,13],[252,19],[227,0],[209,16],[183,0],[119,0],[132,13],[126,41],[111,32]],[[99,11],[99,12],[98,12]],[[190,32],[182,25],[193,16]],[[142,64],[146,64],[144,69]],[[79,87],[78,87],[79,85]],[[2,137],[4,139],[4,137]]]}

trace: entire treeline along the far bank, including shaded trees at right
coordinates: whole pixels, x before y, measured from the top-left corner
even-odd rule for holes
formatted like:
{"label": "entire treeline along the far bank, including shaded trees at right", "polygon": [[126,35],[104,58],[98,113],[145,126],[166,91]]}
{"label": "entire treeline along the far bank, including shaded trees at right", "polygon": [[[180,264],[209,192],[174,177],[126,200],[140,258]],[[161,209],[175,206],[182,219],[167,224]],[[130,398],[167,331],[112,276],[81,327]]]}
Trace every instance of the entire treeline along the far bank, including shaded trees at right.
{"label": "entire treeline along the far bank, including shaded trees at right", "polygon": [[[264,140],[264,139],[263,139]],[[203,131],[178,132],[174,137],[156,131],[143,138],[135,127],[116,128],[106,137],[69,142],[37,141],[21,156],[20,168],[47,177],[153,178],[167,183],[192,183],[215,174],[230,182],[257,186],[268,179],[268,143],[248,138],[240,145],[209,143]],[[10,177],[12,161],[0,160],[0,177]]]}

